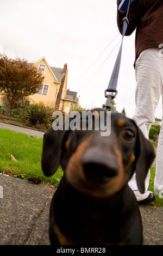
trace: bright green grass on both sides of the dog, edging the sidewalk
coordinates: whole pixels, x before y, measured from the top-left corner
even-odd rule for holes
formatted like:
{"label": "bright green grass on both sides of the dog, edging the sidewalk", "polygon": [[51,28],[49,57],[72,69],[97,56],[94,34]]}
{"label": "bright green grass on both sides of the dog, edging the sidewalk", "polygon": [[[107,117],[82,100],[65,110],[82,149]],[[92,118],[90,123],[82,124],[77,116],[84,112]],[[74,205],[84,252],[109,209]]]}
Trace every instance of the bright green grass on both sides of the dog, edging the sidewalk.
{"label": "bright green grass on both sides of the dog, edging the sidewalk", "polygon": [[[16,175],[24,179],[40,178],[42,184],[59,185],[63,175],[61,167],[51,177],[47,178],[41,169],[42,155],[41,138],[25,135],[23,133],[12,132],[0,129],[0,172]],[[16,161],[11,159],[15,157]],[[155,169],[151,168],[151,179],[148,190],[153,191]],[[163,206],[163,199],[156,196],[154,206]]]}

